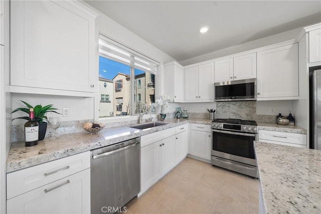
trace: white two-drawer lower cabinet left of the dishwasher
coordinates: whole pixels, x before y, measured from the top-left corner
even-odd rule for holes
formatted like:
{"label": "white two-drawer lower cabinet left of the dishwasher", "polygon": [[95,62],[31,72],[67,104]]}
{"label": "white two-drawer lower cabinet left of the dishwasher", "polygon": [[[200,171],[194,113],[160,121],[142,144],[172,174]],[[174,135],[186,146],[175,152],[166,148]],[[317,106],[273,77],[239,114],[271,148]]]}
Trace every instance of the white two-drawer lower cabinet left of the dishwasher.
{"label": "white two-drawer lower cabinet left of the dishwasher", "polygon": [[7,213],[90,213],[90,151],[8,173]]}

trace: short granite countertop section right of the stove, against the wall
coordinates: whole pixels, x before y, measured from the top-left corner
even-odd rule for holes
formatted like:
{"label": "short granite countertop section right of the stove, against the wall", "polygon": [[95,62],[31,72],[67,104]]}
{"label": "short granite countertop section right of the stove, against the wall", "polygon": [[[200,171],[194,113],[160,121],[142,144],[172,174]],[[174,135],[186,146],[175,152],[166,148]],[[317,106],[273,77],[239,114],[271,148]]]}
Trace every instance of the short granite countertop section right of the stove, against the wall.
{"label": "short granite countertop section right of the stove, against the wall", "polygon": [[280,131],[289,133],[306,134],[306,129],[295,125],[279,125],[277,123],[257,122],[258,130]]}

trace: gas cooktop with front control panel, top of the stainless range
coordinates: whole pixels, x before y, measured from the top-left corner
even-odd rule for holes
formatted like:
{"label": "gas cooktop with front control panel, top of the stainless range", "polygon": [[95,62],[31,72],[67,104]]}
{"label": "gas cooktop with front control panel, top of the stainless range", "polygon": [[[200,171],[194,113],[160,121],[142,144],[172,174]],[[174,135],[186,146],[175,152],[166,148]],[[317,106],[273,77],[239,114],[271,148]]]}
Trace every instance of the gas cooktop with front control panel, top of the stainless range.
{"label": "gas cooktop with front control panel, top of the stainless range", "polygon": [[213,129],[257,133],[257,123],[254,120],[215,119],[212,121]]}

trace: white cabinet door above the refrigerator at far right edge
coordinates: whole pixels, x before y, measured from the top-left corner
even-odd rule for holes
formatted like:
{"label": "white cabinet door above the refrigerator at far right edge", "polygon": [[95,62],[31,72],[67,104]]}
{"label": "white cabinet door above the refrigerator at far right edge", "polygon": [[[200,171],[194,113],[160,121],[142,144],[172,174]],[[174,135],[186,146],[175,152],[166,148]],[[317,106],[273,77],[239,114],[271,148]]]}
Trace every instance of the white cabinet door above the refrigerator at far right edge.
{"label": "white cabinet door above the refrigerator at far right edge", "polygon": [[321,29],[309,32],[309,62],[321,61]]}

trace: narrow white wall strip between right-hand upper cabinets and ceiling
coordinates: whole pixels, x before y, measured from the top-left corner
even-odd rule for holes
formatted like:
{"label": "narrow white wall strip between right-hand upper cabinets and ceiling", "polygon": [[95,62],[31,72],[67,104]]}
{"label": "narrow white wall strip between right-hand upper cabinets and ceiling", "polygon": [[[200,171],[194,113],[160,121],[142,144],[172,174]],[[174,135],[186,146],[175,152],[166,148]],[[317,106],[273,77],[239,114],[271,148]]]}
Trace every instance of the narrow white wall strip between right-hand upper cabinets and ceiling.
{"label": "narrow white wall strip between right-hand upper cabinets and ceiling", "polygon": [[254,40],[251,42],[243,43],[240,45],[236,45],[236,46],[232,46],[232,47],[218,50],[215,52],[211,52],[208,54],[204,54],[204,55],[201,55],[198,57],[193,57],[193,58],[190,58],[187,60],[180,61],[179,63],[183,66],[187,66],[187,65],[194,64],[194,63],[212,60],[212,59],[216,59],[219,57],[224,57],[224,56],[228,56],[231,54],[237,54],[237,53],[240,53],[243,51],[249,51],[252,49],[261,48],[264,46],[273,45],[276,43],[296,39],[297,35],[299,34],[299,32],[301,30],[302,30],[302,28],[297,28],[297,29],[294,29],[291,31],[286,31],[286,32],[283,32],[280,34],[275,34],[275,35],[265,37],[262,39]]}

